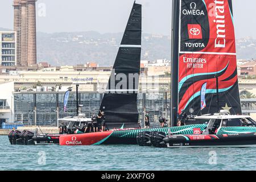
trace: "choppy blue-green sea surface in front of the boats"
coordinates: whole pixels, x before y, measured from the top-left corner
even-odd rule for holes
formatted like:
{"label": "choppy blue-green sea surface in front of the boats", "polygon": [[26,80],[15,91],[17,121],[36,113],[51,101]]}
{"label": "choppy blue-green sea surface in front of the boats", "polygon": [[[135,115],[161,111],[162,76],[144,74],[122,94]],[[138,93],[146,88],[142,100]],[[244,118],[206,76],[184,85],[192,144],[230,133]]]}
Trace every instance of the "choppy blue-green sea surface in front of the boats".
{"label": "choppy blue-green sea surface in front of the boats", "polygon": [[21,146],[0,136],[0,170],[255,170],[256,148]]}

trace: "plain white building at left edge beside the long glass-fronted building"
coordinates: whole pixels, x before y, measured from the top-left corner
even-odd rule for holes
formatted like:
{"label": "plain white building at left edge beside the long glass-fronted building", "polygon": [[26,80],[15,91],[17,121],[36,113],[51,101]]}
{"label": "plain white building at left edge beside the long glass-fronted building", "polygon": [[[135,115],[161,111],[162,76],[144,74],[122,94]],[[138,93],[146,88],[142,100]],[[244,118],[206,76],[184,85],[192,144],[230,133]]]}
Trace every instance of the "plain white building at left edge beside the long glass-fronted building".
{"label": "plain white building at left edge beside the long glass-fronted building", "polygon": [[3,122],[13,122],[14,113],[14,82],[0,84],[0,128]]}

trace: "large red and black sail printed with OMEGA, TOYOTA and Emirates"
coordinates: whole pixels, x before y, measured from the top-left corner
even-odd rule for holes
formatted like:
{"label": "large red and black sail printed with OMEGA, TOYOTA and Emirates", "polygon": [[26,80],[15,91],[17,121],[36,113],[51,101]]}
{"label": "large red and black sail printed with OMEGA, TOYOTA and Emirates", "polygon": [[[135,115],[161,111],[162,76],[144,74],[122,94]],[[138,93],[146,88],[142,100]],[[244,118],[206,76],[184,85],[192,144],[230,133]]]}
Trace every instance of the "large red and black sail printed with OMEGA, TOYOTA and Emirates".
{"label": "large red and black sail printed with OMEGA, TOYOTA and Emirates", "polygon": [[216,113],[217,76],[220,107],[241,114],[232,1],[180,0],[179,18],[179,113]]}

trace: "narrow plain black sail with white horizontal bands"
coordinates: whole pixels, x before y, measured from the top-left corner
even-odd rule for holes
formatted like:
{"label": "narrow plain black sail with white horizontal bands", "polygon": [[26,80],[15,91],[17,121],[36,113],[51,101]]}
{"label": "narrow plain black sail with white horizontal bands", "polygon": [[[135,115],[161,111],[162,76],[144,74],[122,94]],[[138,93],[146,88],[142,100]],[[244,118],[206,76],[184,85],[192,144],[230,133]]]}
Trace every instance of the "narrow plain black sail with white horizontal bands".
{"label": "narrow plain black sail with white horizontal bands", "polygon": [[141,34],[142,6],[134,2],[100,106],[105,112],[108,129],[138,127]]}

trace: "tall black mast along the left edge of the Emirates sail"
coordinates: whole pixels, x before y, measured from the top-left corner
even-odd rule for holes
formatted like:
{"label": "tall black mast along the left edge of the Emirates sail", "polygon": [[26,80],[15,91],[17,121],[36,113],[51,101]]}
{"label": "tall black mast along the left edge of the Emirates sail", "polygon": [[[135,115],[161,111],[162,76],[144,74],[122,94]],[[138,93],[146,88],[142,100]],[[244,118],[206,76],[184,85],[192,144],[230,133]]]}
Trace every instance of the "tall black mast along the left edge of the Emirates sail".
{"label": "tall black mast along the left edge of the Emirates sail", "polygon": [[177,112],[178,112],[179,4],[180,4],[180,0],[172,0],[171,121],[170,121],[170,126],[176,125]]}

